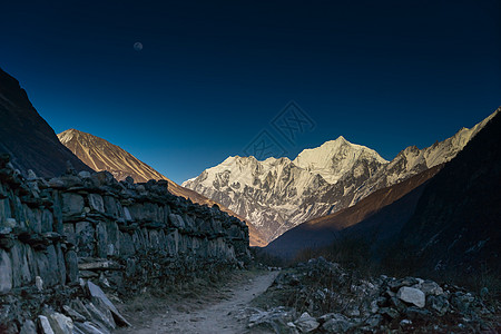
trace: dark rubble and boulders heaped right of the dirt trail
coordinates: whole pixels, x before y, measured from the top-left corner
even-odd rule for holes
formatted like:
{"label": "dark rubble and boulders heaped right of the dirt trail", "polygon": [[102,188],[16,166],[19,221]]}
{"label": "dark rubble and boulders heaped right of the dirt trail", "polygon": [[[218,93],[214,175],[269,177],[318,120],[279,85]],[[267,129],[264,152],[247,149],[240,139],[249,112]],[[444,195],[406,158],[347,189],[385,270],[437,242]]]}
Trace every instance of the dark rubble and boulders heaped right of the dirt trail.
{"label": "dark rubble and boulders heaped right of the dirt trail", "polygon": [[499,333],[501,308],[456,286],[415,277],[362,278],[322,257],[283,271],[249,328],[275,333]]}

